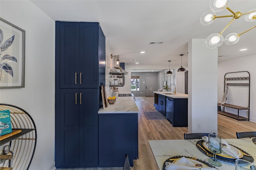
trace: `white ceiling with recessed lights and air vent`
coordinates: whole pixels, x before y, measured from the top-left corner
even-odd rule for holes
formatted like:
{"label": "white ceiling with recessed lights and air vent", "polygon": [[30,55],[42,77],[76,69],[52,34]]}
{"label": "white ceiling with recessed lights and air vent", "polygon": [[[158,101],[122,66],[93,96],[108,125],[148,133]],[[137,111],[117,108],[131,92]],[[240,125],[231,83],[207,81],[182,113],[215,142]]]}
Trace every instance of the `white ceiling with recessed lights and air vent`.
{"label": "white ceiling with recessed lights and air vent", "polygon": [[[99,22],[106,43],[113,55],[132,65],[136,70],[151,71],[188,67],[188,41],[206,39],[220,33],[232,20],[216,18],[211,25],[202,25],[200,16],[209,10],[209,0],[32,0],[54,21]],[[234,12],[247,12],[256,8],[256,0],[232,0],[229,8]],[[217,16],[231,15],[228,10]],[[244,17],[235,20],[222,34],[242,33],[256,25]],[[150,45],[151,41],[164,41]],[[256,28],[240,36],[235,45],[223,43],[218,48],[218,62],[256,54]],[[240,51],[240,49],[248,49]],[[145,51],[141,54],[141,51]],[[207,57],[207,56],[206,56]],[[135,64],[134,61],[139,64]],[[143,68],[143,69],[142,69]]]}

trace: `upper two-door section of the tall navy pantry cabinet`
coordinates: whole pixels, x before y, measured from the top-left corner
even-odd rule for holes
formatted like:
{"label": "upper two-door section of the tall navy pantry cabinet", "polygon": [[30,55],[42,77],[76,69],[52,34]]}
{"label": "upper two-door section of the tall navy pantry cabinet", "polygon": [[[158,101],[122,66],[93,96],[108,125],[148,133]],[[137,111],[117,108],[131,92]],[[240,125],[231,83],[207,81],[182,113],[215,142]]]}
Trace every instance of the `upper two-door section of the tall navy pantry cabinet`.
{"label": "upper two-door section of the tall navy pantry cabinet", "polygon": [[60,24],[60,88],[98,88],[99,23],[56,23]]}

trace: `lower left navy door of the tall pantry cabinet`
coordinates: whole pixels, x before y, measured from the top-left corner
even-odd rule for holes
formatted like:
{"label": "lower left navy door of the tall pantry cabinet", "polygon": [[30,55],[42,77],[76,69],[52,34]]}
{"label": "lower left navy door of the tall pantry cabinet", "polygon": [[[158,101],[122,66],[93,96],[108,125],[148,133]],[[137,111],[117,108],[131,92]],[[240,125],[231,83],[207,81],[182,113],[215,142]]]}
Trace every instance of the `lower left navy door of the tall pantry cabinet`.
{"label": "lower left navy door of the tall pantry cabinet", "polygon": [[[56,168],[78,167],[79,105],[77,89],[60,89],[60,112],[56,113]],[[57,120],[58,119],[58,120]]]}

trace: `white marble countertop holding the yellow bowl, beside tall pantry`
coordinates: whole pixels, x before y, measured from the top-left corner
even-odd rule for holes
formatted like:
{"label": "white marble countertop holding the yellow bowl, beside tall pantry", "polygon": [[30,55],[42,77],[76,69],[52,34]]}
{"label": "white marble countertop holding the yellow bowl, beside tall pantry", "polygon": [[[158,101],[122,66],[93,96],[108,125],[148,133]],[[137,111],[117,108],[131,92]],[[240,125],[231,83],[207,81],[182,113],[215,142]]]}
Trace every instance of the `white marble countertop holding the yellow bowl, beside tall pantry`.
{"label": "white marble countertop holding the yellow bowl, beside tall pantry", "polygon": [[117,97],[114,104],[108,104],[105,109],[102,107],[100,113],[139,113],[139,109],[132,96]]}

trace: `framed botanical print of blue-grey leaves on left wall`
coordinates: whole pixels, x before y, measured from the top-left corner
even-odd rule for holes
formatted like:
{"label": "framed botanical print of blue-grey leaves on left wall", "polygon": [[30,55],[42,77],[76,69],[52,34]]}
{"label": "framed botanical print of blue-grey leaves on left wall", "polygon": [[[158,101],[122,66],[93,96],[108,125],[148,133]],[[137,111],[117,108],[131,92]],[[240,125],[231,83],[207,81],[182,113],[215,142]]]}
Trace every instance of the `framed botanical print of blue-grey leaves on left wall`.
{"label": "framed botanical print of blue-grey leaves on left wall", "polygon": [[0,88],[24,88],[25,30],[0,18]]}

